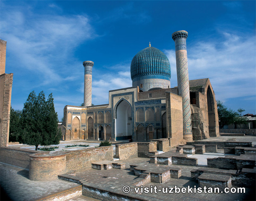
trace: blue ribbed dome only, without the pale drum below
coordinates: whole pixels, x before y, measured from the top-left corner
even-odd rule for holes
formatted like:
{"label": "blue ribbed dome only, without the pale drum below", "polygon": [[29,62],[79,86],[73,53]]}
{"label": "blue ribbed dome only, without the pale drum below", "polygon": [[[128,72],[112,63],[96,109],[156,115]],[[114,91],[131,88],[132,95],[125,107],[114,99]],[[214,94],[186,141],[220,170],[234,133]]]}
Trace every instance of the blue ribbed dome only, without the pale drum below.
{"label": "blue ribbed dome only, without the pale drum below", "polygon": [[139,51],[130,65],[131,79],[138,76],[156,75],[163,76],[170,80],[171,67],[166,55],[157,48],[147,47]]}

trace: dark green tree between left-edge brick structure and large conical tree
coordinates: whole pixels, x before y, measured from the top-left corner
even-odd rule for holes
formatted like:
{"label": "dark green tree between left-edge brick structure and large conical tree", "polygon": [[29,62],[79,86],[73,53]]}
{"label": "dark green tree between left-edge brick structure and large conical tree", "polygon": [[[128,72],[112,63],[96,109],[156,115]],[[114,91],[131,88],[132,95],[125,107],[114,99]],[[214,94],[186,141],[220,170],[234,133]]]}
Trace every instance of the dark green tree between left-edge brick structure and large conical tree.
{"label": "dark green tree between left-edge brick structure and large conical tree", "polygon": [[21,141],[21,114],[22,114],[22,111],[14,110],[11,106],[9,142]]}

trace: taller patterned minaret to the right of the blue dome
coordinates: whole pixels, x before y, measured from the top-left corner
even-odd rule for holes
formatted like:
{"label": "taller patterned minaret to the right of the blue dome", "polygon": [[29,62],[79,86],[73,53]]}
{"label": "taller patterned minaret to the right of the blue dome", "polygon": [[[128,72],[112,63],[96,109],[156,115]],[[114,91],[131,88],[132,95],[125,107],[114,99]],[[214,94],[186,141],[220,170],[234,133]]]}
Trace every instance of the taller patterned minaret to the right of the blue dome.
{"label": "taller patterned minaret to the right of the blue dome", "polygon": [[187,32],[184,30],[176,31],[172,34],[172,38],[175,42],[178,94],[182,97],[183,139],[192,141],[190,85],[187,69]]}

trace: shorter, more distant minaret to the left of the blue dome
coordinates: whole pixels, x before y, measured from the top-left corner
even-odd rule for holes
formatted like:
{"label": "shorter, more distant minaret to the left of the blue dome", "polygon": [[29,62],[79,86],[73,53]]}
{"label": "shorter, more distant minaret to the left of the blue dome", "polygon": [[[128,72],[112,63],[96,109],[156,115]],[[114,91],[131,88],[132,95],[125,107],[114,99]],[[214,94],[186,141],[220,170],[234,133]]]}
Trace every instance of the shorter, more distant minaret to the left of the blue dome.
{"label": "shorter, more distant minaret to the left of the blue dome", "polygon": [[83,96],[83,105],[92,106],[92,67],[94,62],[84,61],[83,66],[85,67],[85,88]]}

